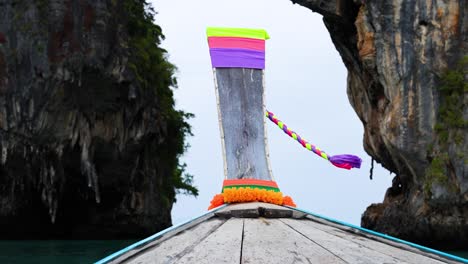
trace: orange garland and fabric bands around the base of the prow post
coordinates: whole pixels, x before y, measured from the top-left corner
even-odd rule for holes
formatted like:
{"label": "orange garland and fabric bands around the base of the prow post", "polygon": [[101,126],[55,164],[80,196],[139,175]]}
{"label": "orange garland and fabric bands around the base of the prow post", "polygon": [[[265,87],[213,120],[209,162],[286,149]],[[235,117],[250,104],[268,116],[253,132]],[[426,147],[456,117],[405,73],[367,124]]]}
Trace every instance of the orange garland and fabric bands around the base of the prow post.
{"label": "orange garland and fabric bands around the base of the prow post", "polygon": [[264,202],[277,205],[296,207],[292,198],[284,196],[274,181],[256,179],[225,180],[223,193],[217,194],[211,200],[208,210],[224,203]]}

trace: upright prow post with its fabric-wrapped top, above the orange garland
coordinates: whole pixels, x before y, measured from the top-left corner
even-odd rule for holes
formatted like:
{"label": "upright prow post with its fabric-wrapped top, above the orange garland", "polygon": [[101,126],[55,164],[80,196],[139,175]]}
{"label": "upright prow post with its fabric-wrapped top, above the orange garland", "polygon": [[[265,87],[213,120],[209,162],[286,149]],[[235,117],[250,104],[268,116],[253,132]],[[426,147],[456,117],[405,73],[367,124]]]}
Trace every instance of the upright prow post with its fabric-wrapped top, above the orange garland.
{"label": "upright prow post with its fabric-wrapped top, above the orange garland", "polygon": [[208,28],[225,179],[272,180],[265,134],[260,29]]}

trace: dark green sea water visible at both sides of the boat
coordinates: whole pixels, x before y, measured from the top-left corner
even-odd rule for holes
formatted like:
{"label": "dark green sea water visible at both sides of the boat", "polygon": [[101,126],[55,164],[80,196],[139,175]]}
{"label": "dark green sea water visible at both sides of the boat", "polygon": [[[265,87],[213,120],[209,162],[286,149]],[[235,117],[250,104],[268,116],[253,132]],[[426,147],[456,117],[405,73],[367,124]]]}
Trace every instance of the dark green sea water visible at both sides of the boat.
{"label": "dark green sea water visible at both sides of the boat", "polygon": [[[0,240],[0,263],[94,263],[135,242],[136,240]],[[448,253],[468,258],[468,251]]]}

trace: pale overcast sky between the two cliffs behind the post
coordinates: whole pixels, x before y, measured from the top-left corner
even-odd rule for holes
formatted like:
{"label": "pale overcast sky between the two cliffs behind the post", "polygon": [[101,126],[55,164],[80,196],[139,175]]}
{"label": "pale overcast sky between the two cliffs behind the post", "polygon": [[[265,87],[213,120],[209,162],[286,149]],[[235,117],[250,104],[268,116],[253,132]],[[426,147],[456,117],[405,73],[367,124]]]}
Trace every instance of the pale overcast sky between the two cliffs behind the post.
{"label": "pale overcast sky between the two cliffs behind the post", "polygon": [[178,67],[176,107],[195,114],[194,136],[184,155],[200,191],[178,195],[173,223],[206,212],[223,180],[213,73],[205,30],[208,26],[267,30],[266,106],[292,130],[329,155],[356,154],[361,169],[332,166],[267,122],[273,176],[299,208],[360,224],[371,203],[391,185],[389,172],[375,166],[363,149],[363,127],[346,95],[347,71],[323,25],[322,16],[289,0],[153,0],[169,60]]}

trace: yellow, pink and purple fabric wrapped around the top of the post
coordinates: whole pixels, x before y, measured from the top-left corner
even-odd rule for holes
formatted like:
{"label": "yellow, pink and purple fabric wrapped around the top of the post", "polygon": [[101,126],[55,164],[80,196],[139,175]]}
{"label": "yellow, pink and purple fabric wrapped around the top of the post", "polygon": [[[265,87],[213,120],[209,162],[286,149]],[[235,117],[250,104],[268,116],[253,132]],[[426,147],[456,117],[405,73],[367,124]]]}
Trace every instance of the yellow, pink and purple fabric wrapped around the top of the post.
{"label": "yellow, pink and purple fabric wrapped around the top of the post", "polygon": [[265,69],[265,40],[263,29],[206,29],[213,68]]}

